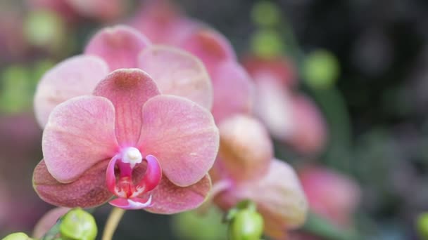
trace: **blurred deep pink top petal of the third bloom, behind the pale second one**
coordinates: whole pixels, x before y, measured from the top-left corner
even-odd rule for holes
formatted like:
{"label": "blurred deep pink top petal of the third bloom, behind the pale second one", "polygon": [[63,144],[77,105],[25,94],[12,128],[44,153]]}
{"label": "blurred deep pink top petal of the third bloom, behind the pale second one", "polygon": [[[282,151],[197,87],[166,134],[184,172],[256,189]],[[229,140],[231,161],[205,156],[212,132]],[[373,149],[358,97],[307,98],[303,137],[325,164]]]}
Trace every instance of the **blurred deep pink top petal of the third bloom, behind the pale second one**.
{"label": "blurred deep pink top petal of the third bloom, behind the pale second one", "polygon": [[210,71],[221,62],[237,60],[237,56],[225,36],[206,27],[194,31],[187,39],[184,39],[181,46],[200,58]]}

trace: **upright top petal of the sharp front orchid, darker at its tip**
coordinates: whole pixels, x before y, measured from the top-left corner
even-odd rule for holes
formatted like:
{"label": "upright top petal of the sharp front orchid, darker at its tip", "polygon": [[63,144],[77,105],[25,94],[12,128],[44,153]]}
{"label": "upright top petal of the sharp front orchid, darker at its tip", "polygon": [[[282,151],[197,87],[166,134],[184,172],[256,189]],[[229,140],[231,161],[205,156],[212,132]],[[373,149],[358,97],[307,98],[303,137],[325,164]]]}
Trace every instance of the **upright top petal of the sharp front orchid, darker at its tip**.
{"label": "upright top petal of the sharp front orchid, darker at its tip", "polygon": [[94,95],[108,98],[115,107],[115,134],[121,147],[137,143],[144,102],[158,95],[151,77],[140,69],[118,69],[101,81]]}

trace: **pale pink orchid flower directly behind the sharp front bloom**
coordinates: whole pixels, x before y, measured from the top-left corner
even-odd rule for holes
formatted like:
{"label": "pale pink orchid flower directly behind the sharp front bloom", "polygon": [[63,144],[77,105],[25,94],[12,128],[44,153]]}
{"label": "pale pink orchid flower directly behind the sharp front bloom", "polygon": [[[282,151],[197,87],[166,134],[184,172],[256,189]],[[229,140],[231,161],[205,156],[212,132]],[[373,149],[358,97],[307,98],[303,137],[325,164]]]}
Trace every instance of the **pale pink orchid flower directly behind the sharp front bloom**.
{"label": "pale pink orchid flower directly behind the sharp front bloom", "polygon": [[44,127],[52,109],[61,102],[91,94],[109,72],[133,67],[148,73],[161,93],[180,95],[211,108],[212,87],[199,59],[177,48],[151,45],[135,29],[118,25],[97,32],[84,55],[64,60],[44,74],[34,97],[39,124]]}

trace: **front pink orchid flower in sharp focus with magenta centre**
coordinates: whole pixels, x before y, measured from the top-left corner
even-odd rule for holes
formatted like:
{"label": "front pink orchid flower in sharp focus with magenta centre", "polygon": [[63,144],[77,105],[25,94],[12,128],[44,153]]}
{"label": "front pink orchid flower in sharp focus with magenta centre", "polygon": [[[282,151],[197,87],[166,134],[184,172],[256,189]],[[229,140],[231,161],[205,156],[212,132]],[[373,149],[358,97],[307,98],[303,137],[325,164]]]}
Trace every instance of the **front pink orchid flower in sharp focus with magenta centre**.
{"label": "front pink orchid flower in sharp focus with magenta centre", "polygon": [[160,95],[139,69],[118,69],[93,95],[53,109],[43,133],[44,160],[34,189],[51,204],[177,213],[210,189],[218,149],[213,116],[191,100]]}

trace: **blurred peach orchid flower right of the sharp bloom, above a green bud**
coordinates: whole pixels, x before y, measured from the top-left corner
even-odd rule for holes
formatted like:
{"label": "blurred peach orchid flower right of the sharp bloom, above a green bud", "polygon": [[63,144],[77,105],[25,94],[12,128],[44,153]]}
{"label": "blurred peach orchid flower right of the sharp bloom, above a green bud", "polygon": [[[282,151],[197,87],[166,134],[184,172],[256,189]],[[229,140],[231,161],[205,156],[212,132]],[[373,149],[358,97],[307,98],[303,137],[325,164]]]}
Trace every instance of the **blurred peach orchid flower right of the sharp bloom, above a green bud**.
{"label": "blurred peach orchid flower right of the sharp bloom, above a green bud", "polygon": [[293,168],[274,159],[272,142],[256,120],[236,115],[220,126],[218,160],[210,171],[215,204],[229,209],[251,199],[265,221],[265,233],[282,239],[303,224],[307,204]]}

